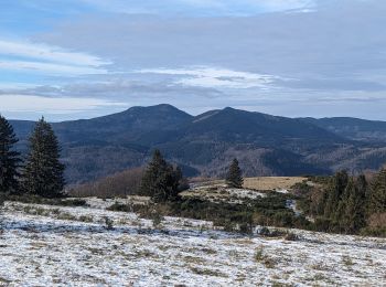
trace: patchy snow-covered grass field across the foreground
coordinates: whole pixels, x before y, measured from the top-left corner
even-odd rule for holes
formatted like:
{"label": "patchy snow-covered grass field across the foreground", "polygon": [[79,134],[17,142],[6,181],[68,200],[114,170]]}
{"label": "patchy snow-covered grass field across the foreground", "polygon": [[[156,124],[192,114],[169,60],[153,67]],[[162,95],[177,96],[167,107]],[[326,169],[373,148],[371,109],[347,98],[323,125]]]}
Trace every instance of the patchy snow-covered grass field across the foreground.
{"label": "patchy snow-covered grass field across the foreground", "polygon": [[2,217],[0,286],[386,286],[383,238],[249,238],[174,217],[156,230],[132,213],[10,202]]}

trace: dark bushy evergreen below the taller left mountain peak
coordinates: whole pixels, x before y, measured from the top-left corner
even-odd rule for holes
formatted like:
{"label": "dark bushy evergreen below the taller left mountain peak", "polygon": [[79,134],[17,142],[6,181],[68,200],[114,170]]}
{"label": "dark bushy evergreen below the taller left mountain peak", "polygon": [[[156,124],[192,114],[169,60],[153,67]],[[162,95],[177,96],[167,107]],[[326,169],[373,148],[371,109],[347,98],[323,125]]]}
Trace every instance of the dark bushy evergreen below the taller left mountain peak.
{"label": "dark bushy evergreen below the taller left mountain peak", "polygon": [[156,150],[152,160],[144,171],[141,182],[141,194],[151,196],[154,202],[173,201],[179,196],[182,171],[174,169]]}

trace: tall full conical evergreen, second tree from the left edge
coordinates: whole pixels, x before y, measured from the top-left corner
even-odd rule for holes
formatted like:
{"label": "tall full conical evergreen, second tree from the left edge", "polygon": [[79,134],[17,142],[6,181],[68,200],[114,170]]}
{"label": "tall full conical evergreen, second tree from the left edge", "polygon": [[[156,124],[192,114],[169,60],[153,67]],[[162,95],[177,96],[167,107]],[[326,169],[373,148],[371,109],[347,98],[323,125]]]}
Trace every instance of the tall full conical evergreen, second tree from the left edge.
{"label": "tall full conical evergreen, second tree from the left edge", "polygon": [[36,123],[29,141],[30,151],[23,171],[24,191],[45,198],[63,195],[65,167],[60,162],[57,138],[44,118]]}

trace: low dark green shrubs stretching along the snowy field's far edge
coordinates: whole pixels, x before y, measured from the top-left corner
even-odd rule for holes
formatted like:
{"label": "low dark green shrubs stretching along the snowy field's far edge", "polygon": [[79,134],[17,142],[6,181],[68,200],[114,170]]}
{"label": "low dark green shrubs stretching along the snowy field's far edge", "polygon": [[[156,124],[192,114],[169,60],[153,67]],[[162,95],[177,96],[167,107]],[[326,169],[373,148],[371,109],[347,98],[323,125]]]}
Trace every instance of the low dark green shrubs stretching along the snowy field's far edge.
{"label": "low dark green shrubs stretching along the snowy field's far edge", "polygon": [[297,216],[286,208],[290,195],[268,193],[266,198],[246,200],[244,204],[211,202],[200,198],[180,199],[173,202],[151,203],[149,205],[115,203],[108,210],[135,212],[141,217],[179,216],[212,221],[227,232],[251,234],[256,225],[277,225],[281,227],[301,227],[310,224],[303,216]]}

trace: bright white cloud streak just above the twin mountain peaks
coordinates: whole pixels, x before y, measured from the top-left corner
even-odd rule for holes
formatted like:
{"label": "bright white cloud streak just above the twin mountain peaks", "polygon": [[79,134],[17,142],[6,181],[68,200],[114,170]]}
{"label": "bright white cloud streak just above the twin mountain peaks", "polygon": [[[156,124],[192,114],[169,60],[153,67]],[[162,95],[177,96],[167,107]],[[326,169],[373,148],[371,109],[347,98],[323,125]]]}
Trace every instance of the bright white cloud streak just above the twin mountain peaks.
{"label": "bright white cloud streak just above the twin mountain peaks", "polygon": [[181,76],[175,84],[208,88],[268,88],[279,77],[217,67],[148,68],[139,73]]}

